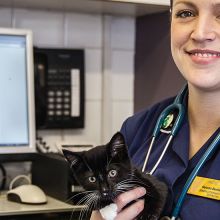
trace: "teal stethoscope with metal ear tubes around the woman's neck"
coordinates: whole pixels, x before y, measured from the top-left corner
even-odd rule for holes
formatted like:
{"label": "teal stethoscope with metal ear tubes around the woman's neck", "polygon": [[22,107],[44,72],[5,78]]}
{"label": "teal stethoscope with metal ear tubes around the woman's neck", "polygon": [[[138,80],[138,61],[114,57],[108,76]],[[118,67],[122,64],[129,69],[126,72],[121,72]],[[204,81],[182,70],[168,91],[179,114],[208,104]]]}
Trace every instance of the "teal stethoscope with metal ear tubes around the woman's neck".
{"label": "teal stethoscope with metal ear tubes around the woman's neck", "polygon": [[[188,87],[185,86],[179,92],[179,94],[175,98],[174,102],[171,105],[169,105],[168,107],[166,107],[162,111],[160,116],[158,117],[157,123],[155,125],[154,130],[153,130],[153,135],[152,135],[152,139],[151,139],[151,142],[150,142],[150,145],[149,145],[149,149],[147,151],[147,154],[146,154],[146,157],[145,157],[145,160],[144,160],[144,165],[142,167],[142,172],[145,172],[151,150],[152,150],[153,145],[155,143],[155,140],[159,136],[160,132],[167,133],[169,135],[169,138],[168,138],[168,141],[167,141],[167,143],[166,143],[166,145],[165,145],[158,161],[153,166],[153,168],[151,169],[149,174],[152,175],[154,173],[154,171],[157,169],[159,163],[163,159],[164,154],[166,153],[168,147],[170,146],[170,143],[171,143],[173,137],[175,137],[175,135],[179,131],[179,128],[182,125],[183,118],[185,116],[185,108],[184,108],[184,105],[182,103],[183,103],[183,100],[185,99],[185,96],[187,94],[188,94]],[[174,117],[174,113],[175,113],[175,117]],[[174,118],[175,118],[175,121],[173,122]],[[220,144],[220,132],[217,134],[215,139],[209,145],[208,149],[203,154],[202,158],[199,160],[196,167],[193,169],[190,176],[188,177],[188,179],[187,179],[187,181],[186,181],[186,183],[183,187],[183,190],[182,190],[182,192],[179,196],[177,204],[176,204],[175,208],[173,209],[172,217],[170,218],[170,217],[166,216],[166,217],[162,218],[163,220],[169,220],[169,219],[170,220],[176,220],[178,218],[179,212],[181,210],[181,207],[183,205],[183,202],[184,202],[184,199],[186,197],[186,194],[187,194],[187,191],[188,191],[189,187],[191,186],[193,180],[195,179],[195,177],[197,176],[198,172],[201,170],[201,168],[203,167],[205,162],[218,149],[219,144]]]}

